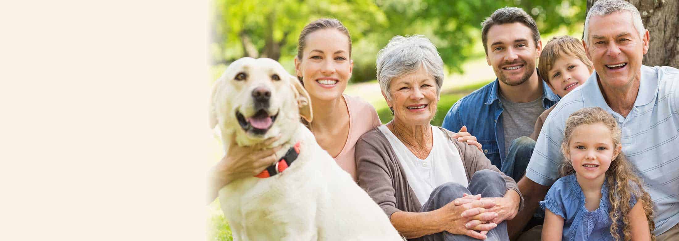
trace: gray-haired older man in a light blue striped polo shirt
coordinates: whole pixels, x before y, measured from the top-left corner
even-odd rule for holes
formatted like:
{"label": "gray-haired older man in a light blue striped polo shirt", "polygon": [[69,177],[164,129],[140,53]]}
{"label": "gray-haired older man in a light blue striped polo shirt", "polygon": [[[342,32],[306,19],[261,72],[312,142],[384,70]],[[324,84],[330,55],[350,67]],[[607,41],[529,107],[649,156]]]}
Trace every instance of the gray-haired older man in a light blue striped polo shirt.
{"label": "gray-haired older man in a light blue striped polo shirt", "polygon": [[[568,115],[598,106],[622,129],[625,157],[636,166],[655,204],[657,240],[679,237],[679,70],[648,67],[642,58],[649,35],[634,5],[622,0],[595,3],[585,20],[583,46],[595,71],[549,114],[519,189],[526,208],[513,219],[521,226],[558,178],[559,151]],[[518,230],[510,230],[511,235]]]}

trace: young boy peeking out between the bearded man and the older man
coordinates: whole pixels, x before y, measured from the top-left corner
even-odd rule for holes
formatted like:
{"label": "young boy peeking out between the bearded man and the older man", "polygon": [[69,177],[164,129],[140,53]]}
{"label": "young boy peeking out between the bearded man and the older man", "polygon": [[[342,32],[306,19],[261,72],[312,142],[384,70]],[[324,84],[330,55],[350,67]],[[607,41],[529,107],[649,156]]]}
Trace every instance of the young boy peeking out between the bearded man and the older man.
{"label": "young boy peeking out between the bearded man and the older man", "polygon": [[[553,37],[540,53],[538,62],[538,74],[547,82],[549,88],[564,97],[567,93],[579,87],[592,73],[592,62],[587,58],[583,43],[574,37]],[[556,105],[554,105],[556,106]],[[554,109],[554,106],[540,114],[535,122],[535,129],[530,138],[537,140],[540,130],[543,129],[545,119]]]}

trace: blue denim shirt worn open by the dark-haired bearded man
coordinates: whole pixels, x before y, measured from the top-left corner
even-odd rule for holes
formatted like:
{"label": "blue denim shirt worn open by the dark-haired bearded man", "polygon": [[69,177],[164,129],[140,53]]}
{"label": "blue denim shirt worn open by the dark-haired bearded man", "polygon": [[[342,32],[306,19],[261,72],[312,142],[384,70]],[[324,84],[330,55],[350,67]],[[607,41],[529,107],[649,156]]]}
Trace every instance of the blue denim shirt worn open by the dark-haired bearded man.
{"label": "blue denim shirt worn open by the dark-haired bearded man", "polygon": [[[537,71],[537,70],[536,70]],[[545,110],[559,102],[558,95],[553,93],[545,81],[543,83],[543,107]],[[502,127],[502,104],[498,99],[500,84],[498,79],[462,97],[443,118],[441,127],[458,132],[463,125],[483,146],[483,154],[492,165],[500,169],[504,153],[504,129]]]}

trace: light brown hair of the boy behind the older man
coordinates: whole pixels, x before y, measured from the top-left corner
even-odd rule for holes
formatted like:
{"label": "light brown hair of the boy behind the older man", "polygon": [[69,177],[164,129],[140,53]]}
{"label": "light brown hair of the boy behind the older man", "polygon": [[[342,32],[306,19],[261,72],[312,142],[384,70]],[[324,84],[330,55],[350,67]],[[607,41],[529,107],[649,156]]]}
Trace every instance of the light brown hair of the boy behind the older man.
{"label": "light brown hair of the boy behind the older man", "polygon": [[[592,72],[592,62],[587,58],[583,43],[574,37],[568,35],[553,37],[543,47],[543,52],[540,53],[540,60],[538,62],[538,74],[543,77],[543,81],[549,84],[548,72],[551,70],[554,62],[563,55],[573,56],[580,59],[589,72]],[[551,84],[549,84],[551,86]]]}

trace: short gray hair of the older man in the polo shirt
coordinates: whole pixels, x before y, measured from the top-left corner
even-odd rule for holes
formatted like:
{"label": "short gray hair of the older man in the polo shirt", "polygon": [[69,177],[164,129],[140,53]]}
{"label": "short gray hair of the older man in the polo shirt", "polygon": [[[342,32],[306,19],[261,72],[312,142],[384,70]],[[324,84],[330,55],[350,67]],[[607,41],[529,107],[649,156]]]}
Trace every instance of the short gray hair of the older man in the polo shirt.
{"label": "short gray hair of the older man in the polo shirt", "polygon": [[600,0],[594,3],[594,5],[589,9],[587,13],[587,18],[585,18],[585,30],[583,32],[583,40],[587,45],[589,45],[589,20],[593,16],[606,16],[608,14],[627,11],[632,15],[632,22],[634,23],[634,28],[639,32],[639,37],[644,38],[644,33],[646,28],[644,28],[644,23],[641,20],[641,15],[639,10],[634,7],[631,3],[623,0]]}

